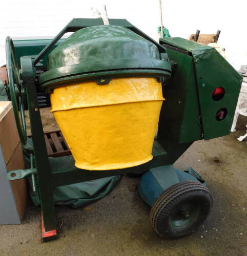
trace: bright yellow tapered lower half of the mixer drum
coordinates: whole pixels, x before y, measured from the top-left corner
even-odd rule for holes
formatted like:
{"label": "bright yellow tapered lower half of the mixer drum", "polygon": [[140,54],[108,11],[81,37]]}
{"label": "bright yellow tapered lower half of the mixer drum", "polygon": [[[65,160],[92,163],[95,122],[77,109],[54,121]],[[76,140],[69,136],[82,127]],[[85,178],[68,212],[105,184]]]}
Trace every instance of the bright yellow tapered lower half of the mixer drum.
{"label": "bright yellow tapered lower half of the mixer drum", "polygon": [[104,85],[86,81],[55,88],[51,112],[76,167],[121,169],[153,158],[162,100],[155,78],[115,78]]}

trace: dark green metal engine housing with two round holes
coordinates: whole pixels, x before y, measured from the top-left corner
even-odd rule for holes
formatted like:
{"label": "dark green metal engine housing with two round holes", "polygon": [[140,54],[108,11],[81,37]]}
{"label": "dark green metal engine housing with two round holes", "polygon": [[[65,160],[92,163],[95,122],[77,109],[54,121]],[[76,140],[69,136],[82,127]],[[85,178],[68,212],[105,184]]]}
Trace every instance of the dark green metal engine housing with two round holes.
{"label": "dark green metal engine housing with two round holes", "polygon": [[[230,134],[242,77],[210,46],[179,37],[162,38],[160,44],[174,62],[163,90],[160,136],[168,133],[183,143]],[[216,88],[224,92],[219,100],[213,98]]]}

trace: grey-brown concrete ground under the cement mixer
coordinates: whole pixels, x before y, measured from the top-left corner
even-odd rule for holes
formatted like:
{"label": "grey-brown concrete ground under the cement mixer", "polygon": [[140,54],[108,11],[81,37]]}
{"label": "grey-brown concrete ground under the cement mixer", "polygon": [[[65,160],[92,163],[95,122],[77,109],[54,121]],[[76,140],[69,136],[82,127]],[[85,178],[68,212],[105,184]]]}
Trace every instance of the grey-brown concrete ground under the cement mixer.
{"label": "grey-brown concrete ground under the cement mixer", "polygon": [[122,177],[96,203],[56,206],[63,222],[56,241],[41,243],[40,208],[30,204],[22,225],[0,226],[0,255],[246,255],[247,146],[236,140],[245,124],[240,117],[237,132],[195,142],[175,163],[181,169],[192,166],[214,197],[209,219],[190,236],[160,238],[151,227],[150,208],[131,191],[139,179]]}

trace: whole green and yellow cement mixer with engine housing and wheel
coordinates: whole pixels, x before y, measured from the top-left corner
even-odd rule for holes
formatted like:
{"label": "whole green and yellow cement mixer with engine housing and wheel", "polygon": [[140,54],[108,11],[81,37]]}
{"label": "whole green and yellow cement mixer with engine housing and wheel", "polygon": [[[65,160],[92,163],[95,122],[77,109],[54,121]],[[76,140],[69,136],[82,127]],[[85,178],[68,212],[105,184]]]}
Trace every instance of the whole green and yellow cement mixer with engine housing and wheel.
{"label": "whole green and yellow cement mixer with engine housing and wheel", "polygon": [[[54,188],[102,177],[142,175],[138,191],[162,237],[193,232],[212,209],[205,181],[173,163],[194,141],[230,133],[241,76],[210,46],[157,43],[126,19],[109,23],[75,18],[53,40],[6,40],[6,90],[30,162],[8,178],[32,177],[43,241],[57,237]],[[72,155],[48,158],[39,92]]]}

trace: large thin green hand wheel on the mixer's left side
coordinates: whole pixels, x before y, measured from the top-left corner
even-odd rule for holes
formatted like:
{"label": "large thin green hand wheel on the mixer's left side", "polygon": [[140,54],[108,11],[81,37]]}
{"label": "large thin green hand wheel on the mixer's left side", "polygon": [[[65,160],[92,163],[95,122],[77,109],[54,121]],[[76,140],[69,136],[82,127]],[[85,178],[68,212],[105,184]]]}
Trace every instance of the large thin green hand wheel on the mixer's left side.
{"label": "large thin green hand wheel on the mixer's left side", "polygon": [[25,120],[24,96],[26,95],[25,88],[20,79],[20,70],[17,67],[16,57],[12,39],[6,38],[6,60],[8,73],[8,91],[11,97],[14,118],[17,126],[20,141],[23,145],[27,143],[27,130]]}

